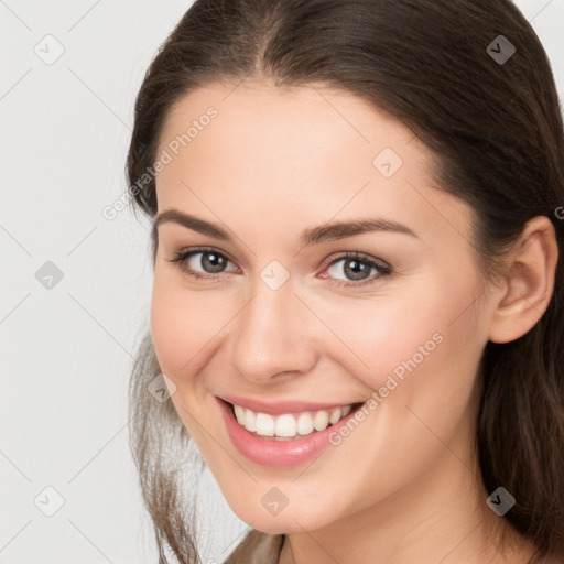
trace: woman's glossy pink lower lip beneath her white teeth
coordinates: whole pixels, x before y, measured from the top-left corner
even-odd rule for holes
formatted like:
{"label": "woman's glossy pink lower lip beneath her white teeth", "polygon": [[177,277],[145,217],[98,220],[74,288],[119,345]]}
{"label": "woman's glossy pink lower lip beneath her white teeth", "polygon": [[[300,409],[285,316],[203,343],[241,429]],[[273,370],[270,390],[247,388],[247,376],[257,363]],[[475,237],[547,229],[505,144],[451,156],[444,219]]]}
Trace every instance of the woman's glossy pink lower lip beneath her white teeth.
{"label": "woman's glossy pink lower lip beneath her white teeth", "polygon": [[239,425],[230,404],[218,398],[216,399],[219,403],[227,432],[240,453],[256,464],[276,468],[297,466],[312,459],[328,446],[333,446],[329,442],[329,435],[335,432],[339,433],[339,427],[346,426],[348,420],[361,408],[360,405],[358,409],[352,410],[347,416],[324,431],[315,431],[302,438],[273,441],[269,437],[254,435],[242,425]]}

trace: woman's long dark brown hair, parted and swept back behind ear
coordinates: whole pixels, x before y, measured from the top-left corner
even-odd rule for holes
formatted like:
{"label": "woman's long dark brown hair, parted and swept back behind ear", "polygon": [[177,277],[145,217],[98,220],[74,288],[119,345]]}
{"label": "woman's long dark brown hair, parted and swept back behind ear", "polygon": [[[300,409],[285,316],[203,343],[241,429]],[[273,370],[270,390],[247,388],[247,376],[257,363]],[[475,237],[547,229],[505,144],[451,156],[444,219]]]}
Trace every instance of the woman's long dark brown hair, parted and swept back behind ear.
{"label": "woman's long dark brown hair, parted and swept back behind ear", "polygon": [[[507,61],[496,58],[500,35],[516,50]],[[561,108],[547,56],[509,0],[197,0],[137,97],[127,175],[132,203],[148,216],[156,214],[156,193],[147,171],[172,106],[200,86],[245,78],[335,86],[408,126],[436,156],[436,184],[476,212],[485,276],[539,215],[552,220],[562,254]],[[155,234],[152,245],[154,267]],[[514,341],[488,343],[479,375],[481,477],[489,492],[503,486],[516,498],[502,520],[534,542],[535,557],[564,557],[562,260],[556,269],[547,311]],[[163,455],[163,445],[187,451],[191,441],[172,402],[147,393],[160,371],[147,334],[131,378],[131,448],[160,563],[166,544],[193,563],[192,518],[182,513],[189,503],[180,500],[176,458]]]}

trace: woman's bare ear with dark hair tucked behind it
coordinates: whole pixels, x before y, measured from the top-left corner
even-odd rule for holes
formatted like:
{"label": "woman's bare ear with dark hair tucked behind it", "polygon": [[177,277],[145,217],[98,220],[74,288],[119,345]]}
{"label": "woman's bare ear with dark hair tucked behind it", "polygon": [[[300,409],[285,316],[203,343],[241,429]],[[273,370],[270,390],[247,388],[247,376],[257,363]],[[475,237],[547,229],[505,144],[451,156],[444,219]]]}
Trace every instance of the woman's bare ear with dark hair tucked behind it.
{"label": "woman's bare ear with dark hair tucked behind it", "polygon": [[558,245],[551,220],[546,216],[529,220],[514,249],[491,318],[494,343],[516,340],[534,327],[554,290]]}

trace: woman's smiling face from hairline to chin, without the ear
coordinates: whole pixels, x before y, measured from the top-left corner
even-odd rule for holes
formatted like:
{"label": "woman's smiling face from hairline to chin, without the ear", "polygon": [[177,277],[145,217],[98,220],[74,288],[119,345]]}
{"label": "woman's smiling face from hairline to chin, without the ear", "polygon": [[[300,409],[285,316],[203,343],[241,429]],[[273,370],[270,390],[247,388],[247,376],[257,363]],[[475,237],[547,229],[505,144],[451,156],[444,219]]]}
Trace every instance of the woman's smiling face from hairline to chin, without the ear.
{"label": "woman's smiling face from hairline to chin, without the ear", "polygon": [[152,338],[232,510],[279,533],[465,491],[492,306],[425,147],[350,94],[248,82],[183,98],[158,158],[159,214],[198,223],[159,221]]}

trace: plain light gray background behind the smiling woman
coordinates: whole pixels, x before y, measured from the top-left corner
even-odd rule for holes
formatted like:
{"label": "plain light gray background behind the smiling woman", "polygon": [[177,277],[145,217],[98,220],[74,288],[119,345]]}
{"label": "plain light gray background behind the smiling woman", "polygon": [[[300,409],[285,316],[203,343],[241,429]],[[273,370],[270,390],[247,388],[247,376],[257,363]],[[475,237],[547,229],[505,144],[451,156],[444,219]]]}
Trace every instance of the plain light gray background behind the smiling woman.
{"label": "plain light gray background behind the smiling woman", "polygon": [[[564,0],[517,4],[563,98]],[[149,326],[149,221],[101,210],[127,191],[144,70],[189,6],[0,0],[0,564],[158,562],[127,430]],[[51,289],[35,276],[47,261],[63,273]],[[208,471],[203,485],[198,542],[212,564],[247,525]]]}

